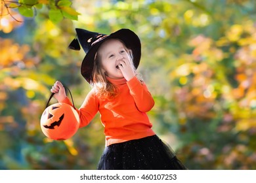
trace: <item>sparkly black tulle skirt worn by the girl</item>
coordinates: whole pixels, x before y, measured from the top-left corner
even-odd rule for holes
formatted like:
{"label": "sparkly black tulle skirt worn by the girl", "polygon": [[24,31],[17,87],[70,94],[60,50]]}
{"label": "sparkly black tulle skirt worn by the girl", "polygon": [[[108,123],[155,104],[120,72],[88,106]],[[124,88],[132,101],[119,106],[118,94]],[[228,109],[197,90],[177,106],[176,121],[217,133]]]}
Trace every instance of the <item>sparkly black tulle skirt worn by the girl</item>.
{"label": "sparkly black tulle skirt worn by the girl", "polygon": [[112,144],[104,149],[99,170],[185,170],[171,147],[157,135]]}

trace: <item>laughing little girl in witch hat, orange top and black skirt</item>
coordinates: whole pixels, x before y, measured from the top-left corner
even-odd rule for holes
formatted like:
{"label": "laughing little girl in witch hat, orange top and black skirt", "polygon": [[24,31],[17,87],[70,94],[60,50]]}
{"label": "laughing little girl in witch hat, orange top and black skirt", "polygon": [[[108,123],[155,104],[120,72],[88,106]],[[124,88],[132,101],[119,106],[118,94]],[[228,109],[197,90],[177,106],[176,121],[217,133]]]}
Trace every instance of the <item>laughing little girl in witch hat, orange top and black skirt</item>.
{"label": "laughing little girl in witch hat, orange top and black skirt", "polygon": [[[175,153],[152,130],[146,112],[154,99],[137,76],[141,45],[129,29],[103,35],[76,29],[70,48],[86,53],[81,75],[93,86],[77,112],[80,127],[88,125],[99,111],[106,147],[98,169],[186,169]],[[58,102],[72,105],[64,87],[51,88]]]}

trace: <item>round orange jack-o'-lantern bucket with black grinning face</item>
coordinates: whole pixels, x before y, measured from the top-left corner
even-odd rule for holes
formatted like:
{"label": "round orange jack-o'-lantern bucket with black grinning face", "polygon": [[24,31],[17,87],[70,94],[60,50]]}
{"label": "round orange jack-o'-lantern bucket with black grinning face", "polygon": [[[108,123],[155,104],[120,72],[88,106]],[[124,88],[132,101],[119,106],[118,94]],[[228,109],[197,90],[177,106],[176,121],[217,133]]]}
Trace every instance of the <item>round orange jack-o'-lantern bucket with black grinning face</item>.
{"label": "round orange jack-o'-lantern bucket with black grinning face", "polygon": [[40,124],[45,136],[58,141],[66,140],[77,132],[79,115],[72,106],[55,103],[45,108]]}

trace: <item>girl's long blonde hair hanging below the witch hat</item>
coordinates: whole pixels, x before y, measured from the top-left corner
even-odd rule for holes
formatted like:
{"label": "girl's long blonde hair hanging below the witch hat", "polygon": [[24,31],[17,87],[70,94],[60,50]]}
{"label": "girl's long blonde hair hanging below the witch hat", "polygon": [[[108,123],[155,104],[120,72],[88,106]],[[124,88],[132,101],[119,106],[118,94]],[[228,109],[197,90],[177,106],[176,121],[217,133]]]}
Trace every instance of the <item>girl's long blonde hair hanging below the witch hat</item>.
{"label": "girl's long blonde hair hanging below the witch hat", "polygon": [[[119,40],[119,39],[118,39]],[[120,40],[119,40],[120,41]],[[122,42],[122,41],[121,41]],[[123,42],[122,42],[123,43]],[[133,52],[129,50],[125,44],[123,44],[125,51],[129,54],[131,58],[131,63],[133,65]],[[99,50],[100,48],[98,48]],[[97,52],[98,53],[98,52]],[[99,54],[95,54],[94,67],[93,67],[93,81],[91,85],[95,89],[96,95],[102,99],[113,99],[118,94],[118,88],[108,81],[106,78],[106,73],[102,68],[102,62]],[[137,76],[137,71],[133,65],[135,71],[135,76]],[[139,79],[142,82],[142,79]]]}

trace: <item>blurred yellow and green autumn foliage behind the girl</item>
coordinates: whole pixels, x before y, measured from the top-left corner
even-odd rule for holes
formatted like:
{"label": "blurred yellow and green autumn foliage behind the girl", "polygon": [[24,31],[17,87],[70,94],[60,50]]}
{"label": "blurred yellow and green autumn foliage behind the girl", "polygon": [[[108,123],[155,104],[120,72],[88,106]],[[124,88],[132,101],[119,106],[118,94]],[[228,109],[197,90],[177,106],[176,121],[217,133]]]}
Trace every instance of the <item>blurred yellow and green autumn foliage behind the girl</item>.
{"label": "blurred yellow and green autumn foliage behind the girl", "polygon": [[84,52],[67,48],[75,27],[138,33],[153,129],[188,169],[256,169],[255,10],[253,0],[1,0],[0,169],[96,169],[98,114],[66,141],[39,125],[55,80],[78,108],[90,90]]}

